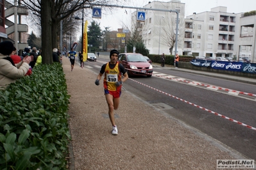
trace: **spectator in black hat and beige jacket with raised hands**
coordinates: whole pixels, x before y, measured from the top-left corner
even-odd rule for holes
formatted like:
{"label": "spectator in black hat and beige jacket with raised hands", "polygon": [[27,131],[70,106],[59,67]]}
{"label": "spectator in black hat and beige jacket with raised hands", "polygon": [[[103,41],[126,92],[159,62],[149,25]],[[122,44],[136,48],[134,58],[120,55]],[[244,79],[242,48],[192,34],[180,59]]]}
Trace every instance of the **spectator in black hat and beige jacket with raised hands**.
{"label": "spectator in black hat and beige jacket with raised hands", "polygon": [[12,42],[0,43],[0,89],[5,89],[8,84],[26,75],[30,68],[29,63],[33,60],[30,56],[26,56],[15,65],[12,58],[10,58],[12,51]]}

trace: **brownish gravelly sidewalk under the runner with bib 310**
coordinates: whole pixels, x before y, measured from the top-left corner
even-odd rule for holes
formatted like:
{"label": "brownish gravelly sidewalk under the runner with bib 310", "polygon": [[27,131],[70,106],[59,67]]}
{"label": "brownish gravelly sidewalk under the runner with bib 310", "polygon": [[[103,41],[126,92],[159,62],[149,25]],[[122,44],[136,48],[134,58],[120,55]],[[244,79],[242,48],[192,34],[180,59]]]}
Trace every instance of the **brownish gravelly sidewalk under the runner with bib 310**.
{"label": "brownish gravelly sidewalk under the runner with bib 310", "polygon": [[119,134],[112,135],[103,80],[94,84],[98,73],[77,64],[71,72],[68,58],[62,66],[71,95],[69,169],[216,169],[217,159],[244,159],[129,91],[122,91],[114,112]]}

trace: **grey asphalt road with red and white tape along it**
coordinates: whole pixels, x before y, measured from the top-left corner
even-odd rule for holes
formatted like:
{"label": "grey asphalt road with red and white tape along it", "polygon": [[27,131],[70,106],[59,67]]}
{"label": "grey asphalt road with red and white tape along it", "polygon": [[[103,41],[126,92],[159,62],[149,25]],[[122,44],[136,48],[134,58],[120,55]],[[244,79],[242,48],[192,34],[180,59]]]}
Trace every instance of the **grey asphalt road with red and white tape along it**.
{"label": "grey asphalt road with red and white tape along it", "polygon": [[[86,62],[85,66],[98,73],[101,65],[107,61],[109,60],[98,59],[97,62]],[[195,86],[192,82],[209,86]],[[244,156],[256,160],[256,130],[216,115],[226,116],[256,128],[255,97],[227,93],[225,90],[212,88],[214,86],[256,94],[256,86],[253,84],[160,67],[154,68],[154,75],[151,78],[130,77],[123,84],[124,89],[136,97],[239,151]]]}

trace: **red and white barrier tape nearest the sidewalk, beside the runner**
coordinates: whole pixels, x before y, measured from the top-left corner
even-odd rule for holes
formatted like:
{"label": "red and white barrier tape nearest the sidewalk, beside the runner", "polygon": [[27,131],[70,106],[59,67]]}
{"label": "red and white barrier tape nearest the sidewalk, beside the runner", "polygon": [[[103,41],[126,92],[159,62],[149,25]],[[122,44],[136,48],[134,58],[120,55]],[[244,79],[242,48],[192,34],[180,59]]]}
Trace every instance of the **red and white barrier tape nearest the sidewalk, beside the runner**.
{"label": "red and white barrier tape nearest the sidewalk, beside the runner", "polygon": [[[129,78],[129,79],[130,79],[130,78]],[[142,84],[143,86],[146,86],[146,87],[148,87],[148,88],[155,89],[156,91],[158,91],[158,92],[160,92],[160,93],[164,93],[165,95],[168,95],[169,97],[176,98],[176,99],[178,99],[178,100],[181,100],[182,102],[185,102],[185,103],[187,103],[187,104],[190,104],[190,105],[193,105],[193,106],[195,106],[195,107],[198,107],[199,109],[203,109],[204,111],[208,111],[208,112],[210,112],[210,113],[213,113],[213,114],[215,114],[215,115],[217,115],[217,116],[220,116],[221,118],[225,118],[226,120],[230,120],[230,121],[235,122],[235,123],[237,123],[237,124],[239,124],[239,125],[242,125],[242,126],[244,126],[244,127],[250,128],[250,129],[252,129],[252,130],[256,130],[256,128],[254,128],[254,127],[251,127],[251,126],[249,126],[249,125],[246,125],[246,124],[244,124],[244,123],[241,123],[240,121],[233,120],[232,118],[228,118],[228,117],[226,117],[226,116],[223,116],[223,115],[219,114],[218,112],[210,111],[209,109],[206,109],[206,108],[204,108],[204,107],[201,107],[200,105],[192,104],[191,102],[187,102],[186,100],[183,100],[182,98],[178,98],[178,97],[175,97],[175,96],[173,96],[173,95],[170,95],[170,94],[168,94],[168,93],[166,93],[166,92],[164,92],[164,91],[161,91],[161,90],[159,90],[159,89],[152,88],[151,86],[148,86],[148,85],[146,85],[146,84],[143,84],[143,83],[141,83],[141,82],[139,82],[139,81],[135,81],[135,80],[133,80],[133,79],[130,79],[130,80],[131,80],[131,81],[134,81],[134,82],[137,82],[137,83],[139,83],[139,84]]]}

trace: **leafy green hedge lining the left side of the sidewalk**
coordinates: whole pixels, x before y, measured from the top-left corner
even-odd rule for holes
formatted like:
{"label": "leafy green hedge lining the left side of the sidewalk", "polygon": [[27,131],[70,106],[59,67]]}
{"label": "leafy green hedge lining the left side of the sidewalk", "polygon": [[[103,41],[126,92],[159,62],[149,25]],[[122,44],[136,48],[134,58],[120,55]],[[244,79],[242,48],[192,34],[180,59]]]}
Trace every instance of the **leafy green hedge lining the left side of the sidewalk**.
{"label": "leafy green hedge lining the left side of the sidewalk", "polygon": [[0,169],[66,169],[69,98],[59,63],[0,90]]}

